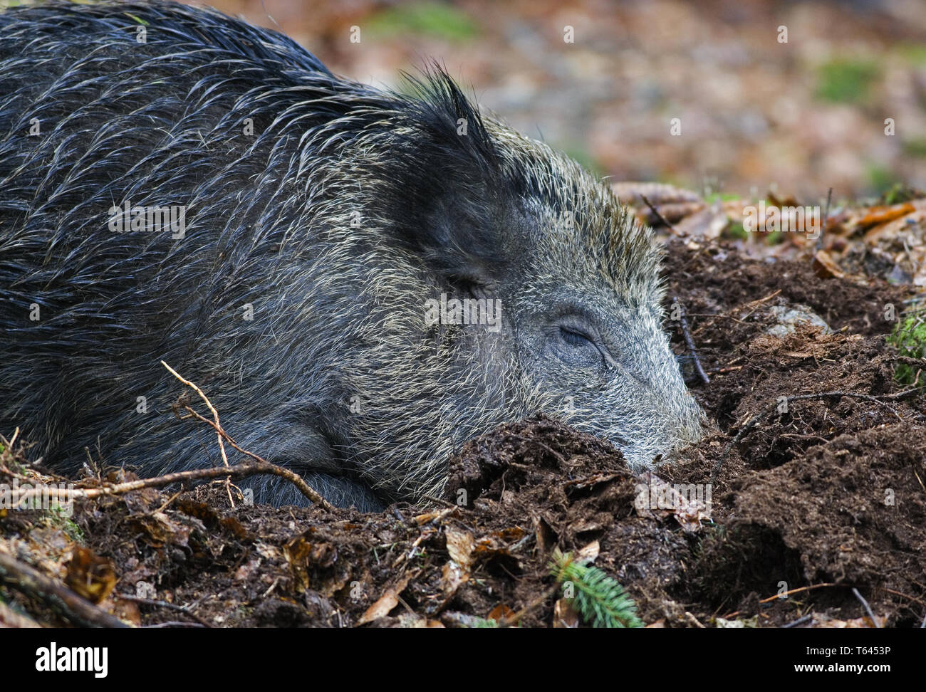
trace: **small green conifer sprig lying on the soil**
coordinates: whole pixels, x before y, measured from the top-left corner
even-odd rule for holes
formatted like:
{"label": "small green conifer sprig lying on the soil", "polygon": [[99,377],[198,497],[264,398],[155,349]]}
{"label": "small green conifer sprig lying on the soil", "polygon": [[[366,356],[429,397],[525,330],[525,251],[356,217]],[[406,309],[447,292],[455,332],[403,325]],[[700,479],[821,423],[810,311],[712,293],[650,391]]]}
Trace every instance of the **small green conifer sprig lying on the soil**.
{"label": "small green conifer sprig lying on the soil", "polygon": [[643,627],[633,602],[619,583],[597,567],[572,559],[557,548],[550,561],[550,574],[559,584],[575,587],[569,605],[593,627]]}

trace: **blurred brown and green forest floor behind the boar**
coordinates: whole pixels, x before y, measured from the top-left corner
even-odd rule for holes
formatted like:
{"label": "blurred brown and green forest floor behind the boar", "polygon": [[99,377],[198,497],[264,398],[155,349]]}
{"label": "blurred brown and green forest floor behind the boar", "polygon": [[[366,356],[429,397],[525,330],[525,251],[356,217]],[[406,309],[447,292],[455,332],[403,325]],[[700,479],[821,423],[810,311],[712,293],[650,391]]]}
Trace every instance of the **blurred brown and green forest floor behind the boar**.
{"label": "blurred brown and green forest floor behind the boar", "polygon": [[207,4],[381,87],[437,59],[482,107],[616,180],[807,203],[926,188],[926,0]]}

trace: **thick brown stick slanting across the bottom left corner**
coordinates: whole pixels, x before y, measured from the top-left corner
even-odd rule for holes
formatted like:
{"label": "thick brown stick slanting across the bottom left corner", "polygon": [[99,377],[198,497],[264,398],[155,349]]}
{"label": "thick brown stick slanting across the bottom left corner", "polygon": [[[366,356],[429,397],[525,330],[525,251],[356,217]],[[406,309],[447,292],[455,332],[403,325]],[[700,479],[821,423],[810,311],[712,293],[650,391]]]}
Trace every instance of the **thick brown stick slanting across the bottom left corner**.
{"label": "thick brown stick slanting across the bottom left corner", "polygon": [[118,617],[82,599],[68,587],[43,575],[25,562],[19,562],[6,550],[0,550],[0,580],[7,587],[41,600],[53,611],[83,627],[128,627]]}

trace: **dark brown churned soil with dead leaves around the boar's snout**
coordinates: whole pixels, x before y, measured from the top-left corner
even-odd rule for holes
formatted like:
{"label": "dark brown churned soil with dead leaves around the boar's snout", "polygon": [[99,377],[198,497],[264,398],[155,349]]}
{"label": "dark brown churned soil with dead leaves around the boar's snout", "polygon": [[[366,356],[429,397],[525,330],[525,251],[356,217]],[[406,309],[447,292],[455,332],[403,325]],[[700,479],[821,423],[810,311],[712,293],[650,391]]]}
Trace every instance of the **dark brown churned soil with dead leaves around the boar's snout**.
{"label": "dark brown churned soil with dead leaves around the boar's snout", "polygon": [[[870,625],[856,587],[884,623],[919,625],[926,401],[921,392],[885,398],[900,389],[884,306],[899,309],[908,293],[681,241],[669,246],[667,280],[711,376],[694,393],[717,421],[681,462],[658,471],[669,483],[710,484],[711,520],[695,530],[671,511],[638,509],[646,481],[609,444],[535,418],[470,441],[430,507],[232,509],[216,485],[81,501],[76,543],[115,575],[101,607],[136,624],[458,626],[518,612],[521,625],[550,626],[558,595],[547,562],[558,547],[596,556],[646,624],[713,626],[723,617],[776,626],[812,613],[808,624]],[[770,336],[773,308],[796,303],[834,333],[798,326]],[[681,353],[681,333],[673,341]],[[870,398],[781,406],[782,397],[832,391]],[[82,574],[74,538],[75,526],[42,513],[0,518],[0,549],[50,575]],[[775,598],[784,591],[788,598]],[[9,586],[0,586],[3,601],[62,622]]]}

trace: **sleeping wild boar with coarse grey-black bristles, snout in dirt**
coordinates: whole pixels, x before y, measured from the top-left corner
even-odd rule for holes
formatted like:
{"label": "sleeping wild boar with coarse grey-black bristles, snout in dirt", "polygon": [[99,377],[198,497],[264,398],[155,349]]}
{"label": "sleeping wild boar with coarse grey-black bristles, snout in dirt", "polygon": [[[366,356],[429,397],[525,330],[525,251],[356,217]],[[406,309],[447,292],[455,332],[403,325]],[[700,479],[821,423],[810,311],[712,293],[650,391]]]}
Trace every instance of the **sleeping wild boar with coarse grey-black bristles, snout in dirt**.
{"label": "sleeping wild boar with coarse grey-black bristles, snout in dirt", "polygon": [[[70,473],[85,447],[216,463],[164,360],[244,449],[361,508],[440,493],[463,441],[535,412],[635,466],[696,439],[648,232],[443,73],[417,87],[170,3],[0,13],[0,432]],[[442,294],[500,327],[433,324]]]}

